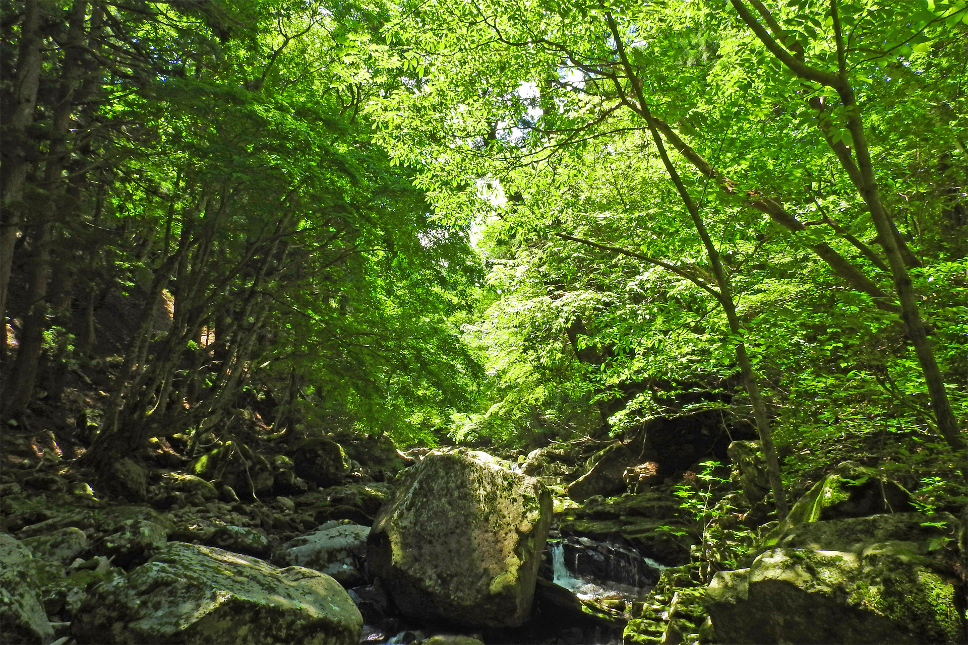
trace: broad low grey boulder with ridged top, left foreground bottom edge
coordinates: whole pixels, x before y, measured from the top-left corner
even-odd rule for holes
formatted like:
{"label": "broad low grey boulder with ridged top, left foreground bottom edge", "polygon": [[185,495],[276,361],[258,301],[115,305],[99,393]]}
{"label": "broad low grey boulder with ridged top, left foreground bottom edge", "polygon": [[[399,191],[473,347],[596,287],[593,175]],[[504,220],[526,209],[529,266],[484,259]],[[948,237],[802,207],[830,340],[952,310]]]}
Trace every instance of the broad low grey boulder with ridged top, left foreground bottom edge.
{"label": "broad low grey boulder with ridged top, left foreground bottom edge", "polygon": [[336,580],[170,542],[77,611],[78,643],[355,643],[363,618]]}

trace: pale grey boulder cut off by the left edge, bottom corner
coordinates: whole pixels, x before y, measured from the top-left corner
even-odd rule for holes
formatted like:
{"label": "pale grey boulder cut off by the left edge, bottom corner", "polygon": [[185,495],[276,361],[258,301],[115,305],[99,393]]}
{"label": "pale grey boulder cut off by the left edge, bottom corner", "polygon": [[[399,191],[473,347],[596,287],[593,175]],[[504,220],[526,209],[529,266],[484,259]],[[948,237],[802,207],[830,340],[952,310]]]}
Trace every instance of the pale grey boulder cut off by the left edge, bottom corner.
{"label": "pale grey boulder cut off by the left edge, bottom corner", "polygon": [[0,642],[49,643],[50,628],[38,599],[30,549],[7,533],[0,533]]}

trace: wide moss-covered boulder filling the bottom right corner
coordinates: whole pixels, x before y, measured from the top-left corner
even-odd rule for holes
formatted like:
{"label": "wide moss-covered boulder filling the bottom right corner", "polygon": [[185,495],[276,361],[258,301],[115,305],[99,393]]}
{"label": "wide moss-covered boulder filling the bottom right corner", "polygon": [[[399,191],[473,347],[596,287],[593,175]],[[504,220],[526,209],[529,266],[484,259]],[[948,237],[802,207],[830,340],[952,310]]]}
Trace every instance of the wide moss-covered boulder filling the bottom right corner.
{"label": "wide moss-covered boulder filling the bottom right corner", "polygon": [[892,513],[788,529],[782,547],[762,552],[749,569],[716,573],[706,598],[715,637],[966,642],[958,576],[939,550],[957,525],[949,513]]}

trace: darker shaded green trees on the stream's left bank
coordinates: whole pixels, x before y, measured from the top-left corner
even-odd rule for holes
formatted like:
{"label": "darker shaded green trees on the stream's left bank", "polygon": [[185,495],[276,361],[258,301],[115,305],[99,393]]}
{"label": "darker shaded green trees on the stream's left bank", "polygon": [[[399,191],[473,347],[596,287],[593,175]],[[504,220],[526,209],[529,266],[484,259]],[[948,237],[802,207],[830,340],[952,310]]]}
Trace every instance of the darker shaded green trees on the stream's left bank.
{"label": "darker shaded green trees on the stream's left bank", "polygon": [[[436,440],[476,387],[455,317],[480,269],[467,227],[433,220],[412,170],[372,141],[362,109],[400,82],[380,62],[385,13],[0,9],[14,115],[0,307],[18,343],[4,348],[5,418],[50,388],[45,365],[117,335],[92,459],[152,436],[228,436],[246,407],[276,432]],[[105,330],[118,293],[134,313]]]}

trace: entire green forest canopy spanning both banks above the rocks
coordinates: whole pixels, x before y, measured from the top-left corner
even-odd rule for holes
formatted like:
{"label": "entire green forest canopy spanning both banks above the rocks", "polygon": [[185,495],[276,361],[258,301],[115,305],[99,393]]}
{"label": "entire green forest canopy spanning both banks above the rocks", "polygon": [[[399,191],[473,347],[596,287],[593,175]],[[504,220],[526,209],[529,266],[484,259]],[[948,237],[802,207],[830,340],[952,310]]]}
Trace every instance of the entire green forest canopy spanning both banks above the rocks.
{"label": "entire green forest canopy spanning both banks above the rocks", "polygon": [[837,437],[956,462],[963,0],[0,8],[8,415],[121,290],[118,446],[258,401],[515,445],[732,405],[788,483]]}

